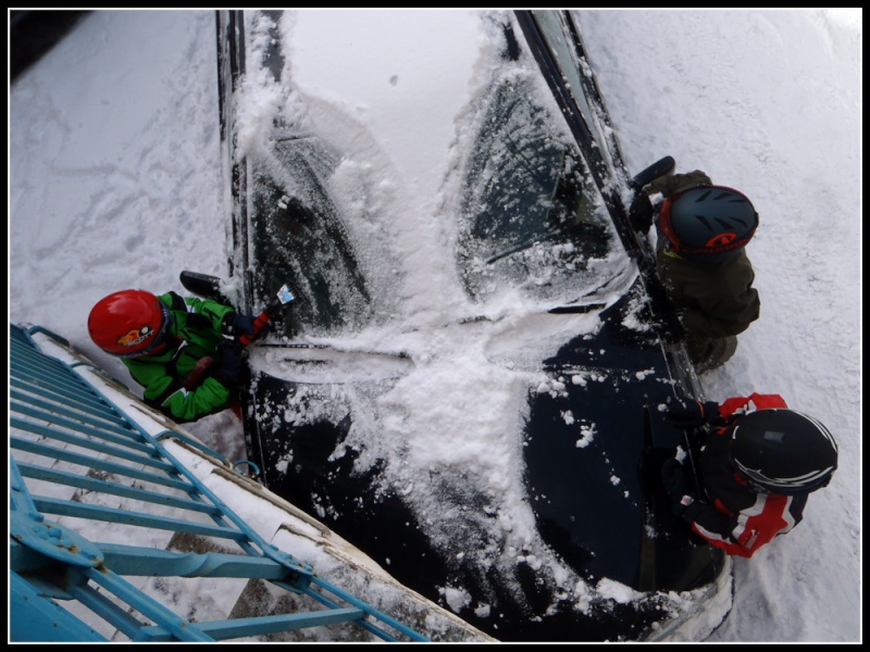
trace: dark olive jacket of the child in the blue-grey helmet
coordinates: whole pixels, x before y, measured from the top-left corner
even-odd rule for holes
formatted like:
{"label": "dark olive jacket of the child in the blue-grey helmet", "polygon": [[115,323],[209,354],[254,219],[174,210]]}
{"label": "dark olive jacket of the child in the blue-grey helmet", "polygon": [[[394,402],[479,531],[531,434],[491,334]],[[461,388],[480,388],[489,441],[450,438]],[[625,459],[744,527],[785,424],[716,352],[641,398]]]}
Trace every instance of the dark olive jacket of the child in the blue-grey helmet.
{"label": "dark olive jacket of the child in the blue-grey helmet", "polygon": [[[709,176],[696,170],[659,177],[645,189],[671,197],[711,184]],[[746,250],[741,249],[722,262],[709,263],[673,253],[660,231],[658,242],[659,278],[681,313],[689,356],[699,371],[723,364],[737,348],[736,336],[760,315],[758,291],[753,288],[755,271]]]}

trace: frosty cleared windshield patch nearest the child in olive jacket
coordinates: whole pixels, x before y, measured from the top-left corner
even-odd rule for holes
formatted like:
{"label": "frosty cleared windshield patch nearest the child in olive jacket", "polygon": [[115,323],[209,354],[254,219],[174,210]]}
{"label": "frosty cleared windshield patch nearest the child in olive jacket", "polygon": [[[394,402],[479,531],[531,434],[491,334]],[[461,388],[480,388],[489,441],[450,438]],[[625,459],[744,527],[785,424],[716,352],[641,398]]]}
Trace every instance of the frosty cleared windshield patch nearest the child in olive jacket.
{"label": "frosty cleared windshield patch nearest the child in olive jacket", "polygon": [[539,103],[535,85],[505,80],[471,148],[459,263],[477,301],[511,287],[533,300],[574,303],[625,266],[600,264],[621,246],[588,171]]}

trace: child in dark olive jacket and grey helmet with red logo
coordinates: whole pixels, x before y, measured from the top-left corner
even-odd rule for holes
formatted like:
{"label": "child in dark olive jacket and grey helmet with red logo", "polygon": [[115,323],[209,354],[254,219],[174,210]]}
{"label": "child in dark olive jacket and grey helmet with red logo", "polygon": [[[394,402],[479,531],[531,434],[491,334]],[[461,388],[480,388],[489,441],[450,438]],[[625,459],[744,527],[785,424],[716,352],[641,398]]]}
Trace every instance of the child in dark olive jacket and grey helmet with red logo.
{"label": "child in dark olive jacket and grey helmet with red logo", "polygon": [[659,177],[644,190],[632,205],[634,226],[649,229],[655,211],[648,195],[661,193],[658,275],[685,328],[697,371],[716,368],[731,359],[736,336],[760,315],[745,249],[758,227],[758,213],[745,195],[713,185],[699,170]]}

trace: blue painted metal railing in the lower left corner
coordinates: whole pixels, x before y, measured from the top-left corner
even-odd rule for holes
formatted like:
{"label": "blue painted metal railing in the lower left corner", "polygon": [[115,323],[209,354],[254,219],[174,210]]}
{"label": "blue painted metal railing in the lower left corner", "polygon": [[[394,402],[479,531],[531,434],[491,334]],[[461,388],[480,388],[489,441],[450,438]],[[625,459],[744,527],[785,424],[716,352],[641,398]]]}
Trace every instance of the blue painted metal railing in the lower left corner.
{"label": "blue painted metal railing in the lower left corner", "polygon": [[[262,539],[161,442],[189,438],[149,435],[72,365],[44,353],[36,330],[66,343],[10,325],[13,641],[105,641],[107,627],[132,641],[220,641],[338,623],[387,641],[427,640]],[[95,523],[126,528],[125,542],[94,542],[76,526]],[[236,553],[174,552],[151,541],[179,534]],[[136,577],[261,579],[325,609],[192,622],[126,579]]]}

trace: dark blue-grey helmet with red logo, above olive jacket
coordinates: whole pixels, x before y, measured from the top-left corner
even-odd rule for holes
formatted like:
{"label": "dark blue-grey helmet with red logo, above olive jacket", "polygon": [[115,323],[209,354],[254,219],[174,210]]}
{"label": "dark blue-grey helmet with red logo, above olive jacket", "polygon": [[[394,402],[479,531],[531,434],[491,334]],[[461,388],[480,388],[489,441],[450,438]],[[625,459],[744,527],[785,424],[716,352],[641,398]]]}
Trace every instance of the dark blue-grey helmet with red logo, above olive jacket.
{"label": "dark blue-grey helmet with red logo, above olive jacket", "polygon": [[758,227],[758,213],[733,188],[699,186],[667,201],[659,224],[672,251],[710,260],[745,247]]}

